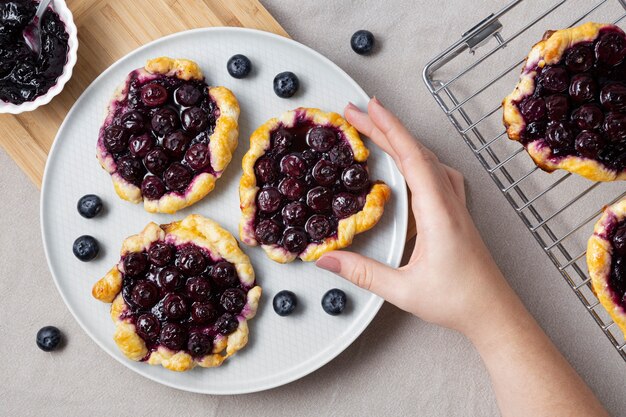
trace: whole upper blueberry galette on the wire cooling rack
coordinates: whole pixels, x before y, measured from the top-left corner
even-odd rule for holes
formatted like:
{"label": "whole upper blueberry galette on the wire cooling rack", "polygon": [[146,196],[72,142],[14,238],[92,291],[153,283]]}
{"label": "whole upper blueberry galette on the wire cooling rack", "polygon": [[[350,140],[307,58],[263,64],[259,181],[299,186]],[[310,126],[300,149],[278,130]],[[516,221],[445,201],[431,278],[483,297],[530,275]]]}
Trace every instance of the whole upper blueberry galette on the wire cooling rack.
{"label": "whole upper blueberry galette on the wire cooling rack", "polygon": [[543,170],[626,179],[626,35],[619,27],[546,32],[503,106],[509,138]]}

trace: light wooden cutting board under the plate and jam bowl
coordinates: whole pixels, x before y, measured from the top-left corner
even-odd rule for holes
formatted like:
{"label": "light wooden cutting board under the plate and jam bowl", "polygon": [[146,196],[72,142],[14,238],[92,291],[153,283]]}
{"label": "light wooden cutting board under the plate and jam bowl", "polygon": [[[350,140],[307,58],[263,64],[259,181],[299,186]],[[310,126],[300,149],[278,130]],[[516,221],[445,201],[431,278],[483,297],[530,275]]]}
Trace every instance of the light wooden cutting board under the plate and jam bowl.
{"label": "light wooden cutting board under the plate and jam bowl", "polygon": [[[240,26],[289,35],[258,0],[67,0],[78,28],[72,79],[49,104],[0,115],[0,146],[38,187],[65,115],[106,68],[154,39],[186,29]],[[409,216],[408,237],[415,236]]]}

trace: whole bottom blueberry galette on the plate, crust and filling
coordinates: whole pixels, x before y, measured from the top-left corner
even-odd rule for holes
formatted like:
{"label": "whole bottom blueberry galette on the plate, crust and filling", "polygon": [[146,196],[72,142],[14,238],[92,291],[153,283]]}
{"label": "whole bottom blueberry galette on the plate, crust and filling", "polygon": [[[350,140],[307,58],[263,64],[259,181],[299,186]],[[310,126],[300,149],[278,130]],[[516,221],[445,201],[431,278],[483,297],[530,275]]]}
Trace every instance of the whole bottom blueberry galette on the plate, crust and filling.
{"label": "whole bottom blueberry galette on the plate, crust and filling", "polygon": [[219,366],[248,343],[261,287],[235,238],[199,215],[149,223],[93,287],[111,305],[115,343],[129,359],[186,371]]}

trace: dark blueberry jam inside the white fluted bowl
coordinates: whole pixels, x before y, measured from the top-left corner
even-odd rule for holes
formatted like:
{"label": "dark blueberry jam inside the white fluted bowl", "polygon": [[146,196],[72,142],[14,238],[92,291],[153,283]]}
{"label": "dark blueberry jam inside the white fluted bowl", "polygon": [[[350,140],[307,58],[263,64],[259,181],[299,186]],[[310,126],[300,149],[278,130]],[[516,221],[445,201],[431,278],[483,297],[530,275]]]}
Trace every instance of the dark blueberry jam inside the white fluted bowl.
{"label": "dark blueberry jam inside the white fluted bowl", "polygon": [[67,62],[68,39],[59,15],[48,9],[41,22],[41,54],[23,38],[37,3],[31,0],[0,3],[0,100],[21,104],[33,101],[56,84]]}

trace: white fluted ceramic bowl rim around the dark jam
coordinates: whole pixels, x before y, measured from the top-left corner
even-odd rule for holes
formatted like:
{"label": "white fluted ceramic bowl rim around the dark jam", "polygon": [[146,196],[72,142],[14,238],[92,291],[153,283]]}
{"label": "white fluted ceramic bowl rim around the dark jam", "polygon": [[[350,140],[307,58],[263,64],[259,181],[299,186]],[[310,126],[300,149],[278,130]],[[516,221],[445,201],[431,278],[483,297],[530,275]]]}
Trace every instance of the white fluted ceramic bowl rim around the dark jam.
{"label": "white fluted ceramic bowl rim around the dark jam", "polygon": [[37,97],[33,101],[26,101],[22,104],[14,104],[0,100],[0,113],[19,114],[26,111],[33,111],[39,106],[48,104],[50,100],[52,100],[52,97],[56,96],[61,92],[61,90],[63,90],[65,83],[67,83],[72,77],[72,70],[76,64],[76,52],[78,50],[78,38],[76,36],[77,31],[76,25],[74,24],[74,16],[72,16],[72,12],[67,7],[67,4],[65,4],[65,0],[54,0],[52,5],[54,11],[58,13],[59,17],[65,24],[65,30],[69,35],[67,62],[65,63],[65,67],[63,67],[63,73],[57,79],[56,84],[50,87],[46,94]]}

